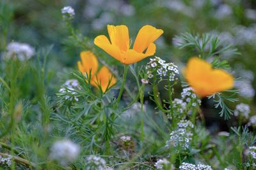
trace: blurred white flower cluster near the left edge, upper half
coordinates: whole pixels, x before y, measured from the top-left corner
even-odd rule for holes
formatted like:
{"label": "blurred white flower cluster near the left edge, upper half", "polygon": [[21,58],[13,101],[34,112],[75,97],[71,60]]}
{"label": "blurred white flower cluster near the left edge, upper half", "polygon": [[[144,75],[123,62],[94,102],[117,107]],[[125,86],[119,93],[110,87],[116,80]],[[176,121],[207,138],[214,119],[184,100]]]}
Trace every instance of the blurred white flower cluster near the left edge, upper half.
{"label": "blurred white flower cluster near the left edge, upper half", "polygon": [[12,42],[7,45],[6,49],[6,59],[12,59],[17,57],[19,60],[22,61],[28,60],[33,55],[35,55],[35,49],[26,43]]}

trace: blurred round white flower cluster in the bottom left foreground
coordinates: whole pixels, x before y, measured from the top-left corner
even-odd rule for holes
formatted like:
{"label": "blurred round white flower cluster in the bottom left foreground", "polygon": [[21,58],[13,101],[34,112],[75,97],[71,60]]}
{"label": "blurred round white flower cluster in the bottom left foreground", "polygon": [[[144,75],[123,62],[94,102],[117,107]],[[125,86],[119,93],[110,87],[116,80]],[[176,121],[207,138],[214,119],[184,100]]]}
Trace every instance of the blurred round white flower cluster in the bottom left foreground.
{"label": "blurred round white flower cluster in the bottom left foreground", "polygon": [[62,166],[67,166],[67,164],[77,159],[79,152],[79,145],[68,139],[63,139],[56,141],[51,146],[50,158],[57,160]]}

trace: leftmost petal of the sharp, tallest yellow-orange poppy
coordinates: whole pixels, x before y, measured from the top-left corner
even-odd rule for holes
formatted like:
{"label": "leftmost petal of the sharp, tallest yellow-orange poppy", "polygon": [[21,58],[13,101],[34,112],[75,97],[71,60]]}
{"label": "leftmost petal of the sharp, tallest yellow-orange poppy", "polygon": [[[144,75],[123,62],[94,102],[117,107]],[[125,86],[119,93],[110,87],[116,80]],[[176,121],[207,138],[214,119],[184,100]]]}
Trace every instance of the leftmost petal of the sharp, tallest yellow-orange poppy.
{"label": "leftmost petal of the sharp, tallest yellow-orange poppy", "polygon": [[99,46],[99,48],[114,57],[116,60],[119,60],[120,62],[124,60],[124,57],[122,57],[124,55],[121,53],[119,47],[116,45],[111,45],[106,36],[97,36],[94,39],[94,44]]}

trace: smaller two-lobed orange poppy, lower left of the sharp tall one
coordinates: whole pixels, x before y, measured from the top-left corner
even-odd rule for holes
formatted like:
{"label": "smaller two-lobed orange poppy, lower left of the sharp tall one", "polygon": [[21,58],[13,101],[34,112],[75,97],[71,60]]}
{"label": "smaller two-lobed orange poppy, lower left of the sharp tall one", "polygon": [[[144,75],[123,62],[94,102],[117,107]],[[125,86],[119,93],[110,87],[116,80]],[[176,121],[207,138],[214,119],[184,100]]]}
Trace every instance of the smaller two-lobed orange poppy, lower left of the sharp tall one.
{"label": "smaller two-lobed orange poppy, lower left of the sharp tall one", "polygon": [[[105,92],[109,87],[113,86],[116,83],[116,78],[109,71],[108,67],[102,66],[99,69],[99,62],[97,57],[90,51],[84,51],[80,53],[81,61],[77,62],[77,67],[79,71],[83,74],[90,74],[91,71],[91,85],[94,87],[101,86],[103,92]],[[109,80],[110,83],[109,83]]]}

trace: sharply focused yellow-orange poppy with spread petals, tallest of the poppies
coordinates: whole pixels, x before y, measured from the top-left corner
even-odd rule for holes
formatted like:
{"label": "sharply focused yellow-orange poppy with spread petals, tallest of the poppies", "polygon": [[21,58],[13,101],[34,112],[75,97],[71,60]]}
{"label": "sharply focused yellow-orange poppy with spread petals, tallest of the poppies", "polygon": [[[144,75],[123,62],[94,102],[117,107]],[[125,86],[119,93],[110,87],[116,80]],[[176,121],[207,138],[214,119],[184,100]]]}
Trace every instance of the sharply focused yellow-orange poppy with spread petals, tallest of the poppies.
{"label": "sharply focused yellow-orange poppy with spread petals, tallest of the poppies", "polygon": [[[127,26],[108,25],[108,34],[110,41],[106,36],[100,35],[94,39],[95,45],[123,64],[132,64],[154,55],[156,45],[153,42],[163,34],[163,30],[150,25],[143,26],[138,32],[132,49],[130,49],[131,44]],[[146,52],[143,53],[145,50]]]}

